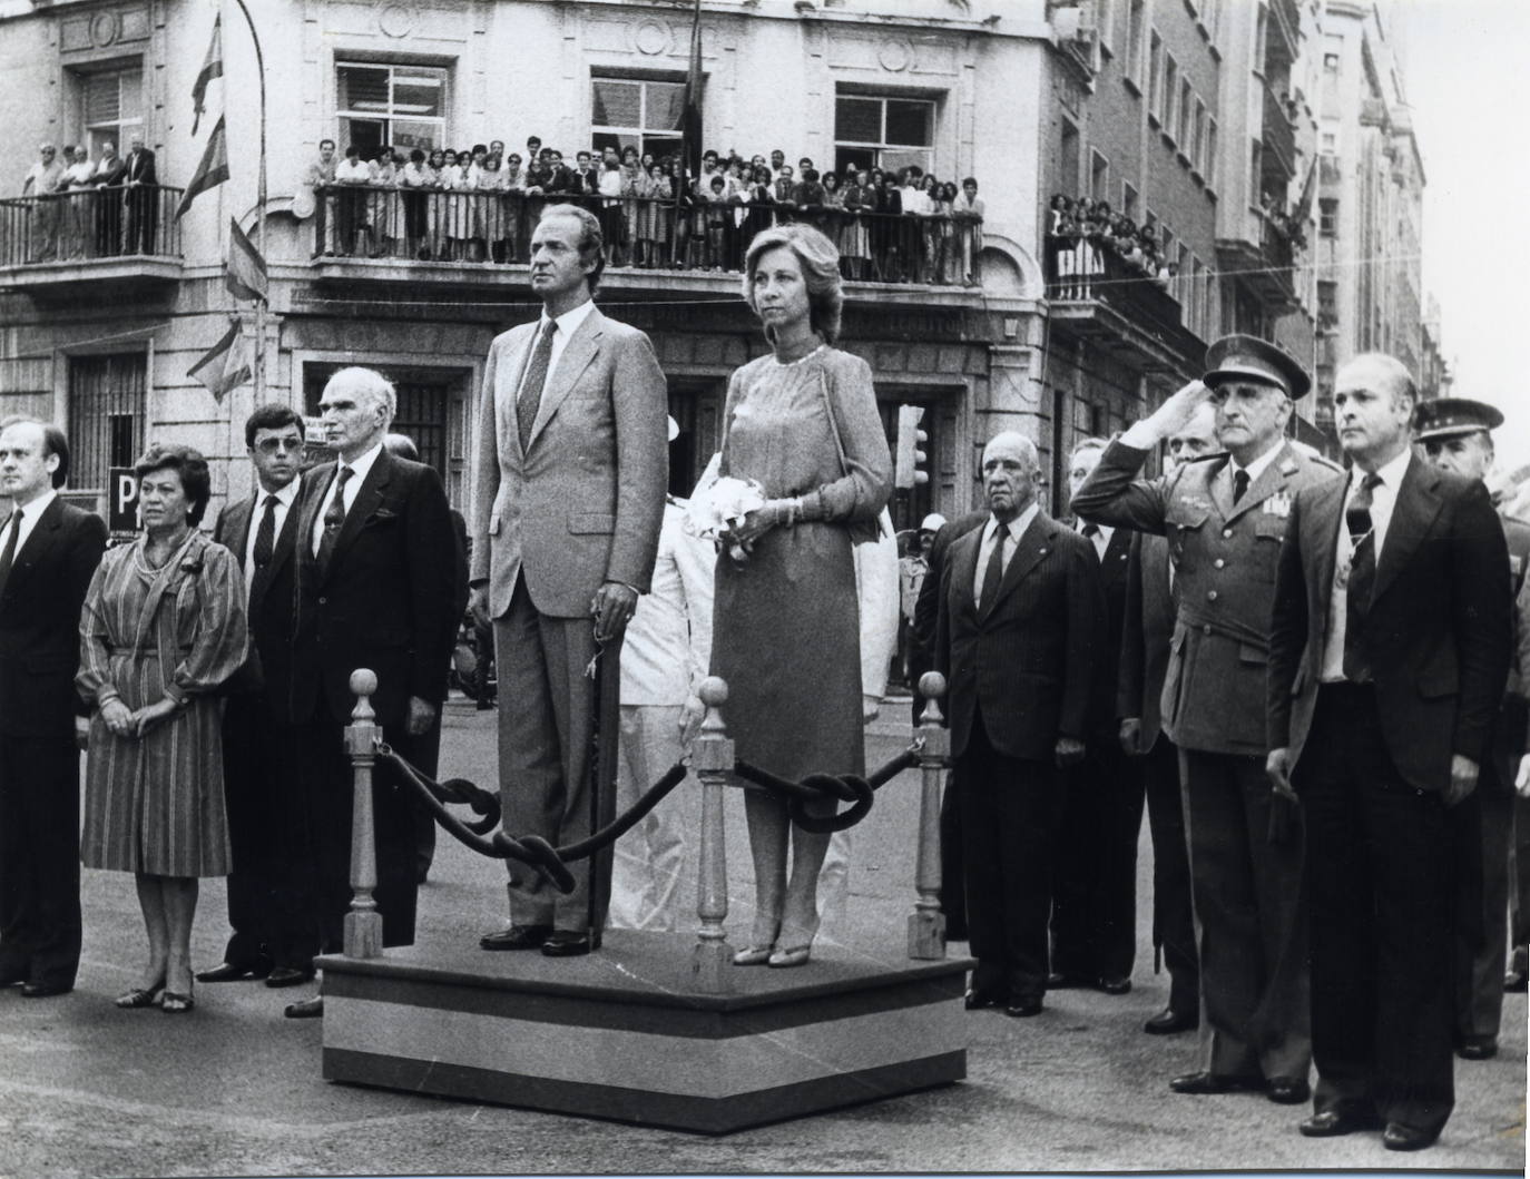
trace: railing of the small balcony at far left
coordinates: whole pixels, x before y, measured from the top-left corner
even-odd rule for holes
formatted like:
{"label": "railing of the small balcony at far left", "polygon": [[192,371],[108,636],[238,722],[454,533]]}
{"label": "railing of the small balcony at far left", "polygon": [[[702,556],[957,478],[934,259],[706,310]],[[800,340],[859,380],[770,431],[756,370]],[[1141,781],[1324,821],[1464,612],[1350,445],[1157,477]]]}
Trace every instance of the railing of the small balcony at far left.
{"label": "railing of the small balcony at far left", "polygon": [[0,200],[0,268],[181,257],[181,188],[80,188]]}

